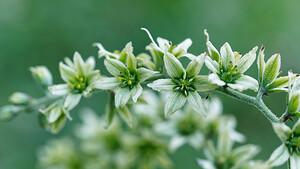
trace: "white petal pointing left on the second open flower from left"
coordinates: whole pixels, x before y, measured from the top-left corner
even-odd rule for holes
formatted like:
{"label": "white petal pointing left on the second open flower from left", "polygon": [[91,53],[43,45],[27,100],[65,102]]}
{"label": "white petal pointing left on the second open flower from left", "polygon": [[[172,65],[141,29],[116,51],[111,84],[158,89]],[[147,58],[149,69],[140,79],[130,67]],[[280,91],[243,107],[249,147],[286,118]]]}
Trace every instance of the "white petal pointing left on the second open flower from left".
{"label": "white petal pointing left on the second open flower from left", "polygon": [[102,90],[113,90],[120,87],[120,85],[121,82],[119,82],[115,77],[103,77],[91,84],[93,88]]}

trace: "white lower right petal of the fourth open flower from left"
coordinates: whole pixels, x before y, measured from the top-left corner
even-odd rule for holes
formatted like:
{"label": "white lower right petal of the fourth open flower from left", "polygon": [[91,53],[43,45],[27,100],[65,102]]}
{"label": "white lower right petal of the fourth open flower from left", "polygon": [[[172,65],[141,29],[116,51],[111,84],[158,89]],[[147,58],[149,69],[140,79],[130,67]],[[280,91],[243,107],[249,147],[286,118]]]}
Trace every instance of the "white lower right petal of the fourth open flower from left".
{"label": "white lower right petal of the fourth open flower from left", "polygon": [[237,89],[239,91],[243,91],[246,89],[252,89],[255,92],[257,92],[258,90],[258,82],[250,77],[250,76],[246,76],[246,75],[242,75],[241,77],[239,77],[236,81],[235,84],[229,83],[227,84],[229,87],[233,88],[233,89]]}

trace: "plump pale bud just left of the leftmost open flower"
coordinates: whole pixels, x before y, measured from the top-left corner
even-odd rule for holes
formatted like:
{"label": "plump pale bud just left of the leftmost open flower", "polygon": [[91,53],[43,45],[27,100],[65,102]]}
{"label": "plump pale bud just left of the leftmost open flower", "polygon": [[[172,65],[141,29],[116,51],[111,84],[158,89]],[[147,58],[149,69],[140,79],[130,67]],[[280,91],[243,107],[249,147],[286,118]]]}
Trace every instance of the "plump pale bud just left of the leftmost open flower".
{"label": "plump pale bud just left of the leftmost open flower", "polygon": [[31,67],[30,71],[32,76],[43,89],[47,89],[48,86],[52,85],[52,74],[49,69],[45,66]]}

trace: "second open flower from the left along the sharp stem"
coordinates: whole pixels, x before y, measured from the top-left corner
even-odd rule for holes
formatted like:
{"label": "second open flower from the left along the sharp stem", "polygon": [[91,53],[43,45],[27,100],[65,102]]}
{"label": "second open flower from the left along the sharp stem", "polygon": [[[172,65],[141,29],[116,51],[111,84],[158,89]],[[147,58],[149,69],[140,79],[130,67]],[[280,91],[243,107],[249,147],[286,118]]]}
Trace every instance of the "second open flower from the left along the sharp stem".
{"label": "second open flower from the left along the sharp stem", "polygon": [[125,107],[130,97],[134,102],[137,102],[143,92],[140,83],[157,73],[146,68],[137,69],[131,42],[127,43],[123,51],[126,53],[120,55],[119,59],[106,57],[104,61],[108,72],[115,77],[101,78],[93,85],[96,89],[114,90],[117,108]]}

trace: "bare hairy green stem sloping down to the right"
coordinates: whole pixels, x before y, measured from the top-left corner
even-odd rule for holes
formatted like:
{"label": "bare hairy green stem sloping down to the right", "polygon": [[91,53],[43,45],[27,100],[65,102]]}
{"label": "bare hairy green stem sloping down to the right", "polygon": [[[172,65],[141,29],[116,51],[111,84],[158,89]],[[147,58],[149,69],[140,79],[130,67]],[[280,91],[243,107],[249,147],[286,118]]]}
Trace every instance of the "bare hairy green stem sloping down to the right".
{"label": "bare hairy green stem sloping down to the right", "polygon": [[221,88],[221,89],[218,88],[217,90],[221,91],[229,96],[232,96],[238,100],[241,100],[245,103],[255,106],[260,112],[263,113],[264,116],[266,116],[268,118],[268,120],[270,122],[272,122],[272,123],[280,122],[279,118],[274,113],[272,113],[272,111],[264,104],[262,99],[246,95],[244,93],[235,91],[230,88]]}

